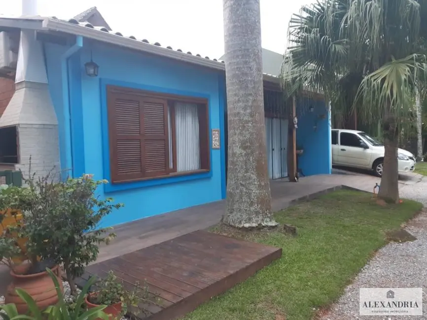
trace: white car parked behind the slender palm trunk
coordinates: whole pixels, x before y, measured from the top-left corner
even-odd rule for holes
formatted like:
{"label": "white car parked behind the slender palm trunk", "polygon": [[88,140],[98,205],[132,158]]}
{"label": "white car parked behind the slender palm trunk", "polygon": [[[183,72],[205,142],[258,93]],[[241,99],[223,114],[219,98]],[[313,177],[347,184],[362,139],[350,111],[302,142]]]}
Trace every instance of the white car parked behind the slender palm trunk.
{"label": "white car parked behind the slender palm trunk", "polygon": [[[373,170],[383,174],[384,145],[368,134],[357,130],[332,129],[332,165]],[[398,149],[399,172],[415,170],[416,160],[409,151]]]}

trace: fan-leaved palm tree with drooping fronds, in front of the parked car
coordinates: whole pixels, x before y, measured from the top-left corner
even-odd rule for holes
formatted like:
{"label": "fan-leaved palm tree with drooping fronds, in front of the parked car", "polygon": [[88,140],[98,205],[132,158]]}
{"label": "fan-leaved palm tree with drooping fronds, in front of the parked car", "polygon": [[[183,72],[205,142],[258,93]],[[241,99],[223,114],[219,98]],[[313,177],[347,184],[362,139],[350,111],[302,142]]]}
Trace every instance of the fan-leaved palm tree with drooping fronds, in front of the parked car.
{"label": "fan-leaved palm tree with drooping fronds, in front of the parked car", "polygon": [[[379,196],[397,202],[397,144],[410,119],[417,80],[427,72],[422,44],[427,0],[319,0],[294,15],[284,84],[321,91],[332,110],[382,119],[385,157]],[[380,165],[380,164],[379,164]]]}

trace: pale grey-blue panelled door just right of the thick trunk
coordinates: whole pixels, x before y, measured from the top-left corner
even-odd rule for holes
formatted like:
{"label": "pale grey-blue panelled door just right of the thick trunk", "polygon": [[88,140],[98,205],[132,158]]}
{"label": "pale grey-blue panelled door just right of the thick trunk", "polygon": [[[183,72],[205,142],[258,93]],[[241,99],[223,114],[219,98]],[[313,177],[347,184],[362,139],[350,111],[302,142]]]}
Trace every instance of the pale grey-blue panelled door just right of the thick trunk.
{"label": "pale grey-blue panelled door just right of the thick trunk", "polygon": [[268,174],[270,179],[287,177],[287,120],[265,118]]}

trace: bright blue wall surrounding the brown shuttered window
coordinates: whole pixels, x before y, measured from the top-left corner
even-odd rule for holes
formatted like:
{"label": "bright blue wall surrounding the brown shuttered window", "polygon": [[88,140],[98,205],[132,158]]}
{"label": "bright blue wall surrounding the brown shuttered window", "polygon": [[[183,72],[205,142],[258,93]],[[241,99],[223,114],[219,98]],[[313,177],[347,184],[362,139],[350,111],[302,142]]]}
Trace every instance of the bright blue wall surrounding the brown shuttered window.
{"label": "bright blue wall surrounding the brown shuttered window", "polygon": [[[67,49],[59,48],[63,52]],[[100,66],[98,77],[88,77],[84,72],[83,65],[90,61],[91,51],[93,61]],[[49,45],[46,47],[46,53],[48,69],[51,69],[49,74],[53,74],[51,77],[55,79],[51,81],[49,78],[51,96],[55,109],[58,110],[58,117],[61,118],[61,52],[56,46]],[[217,72],[107,45],[88,47],[86,43],[83,49],[70,59],[69,72],[71,144],[76,175],[92,173],[94,179],[109,179],[109,159],[105,157],[109,152],[105,123],[107,83],[209,98],[210,127],[221,129],[221,142],[224,142],[224,93],[220,93],[220,88],[224,88],[224,80]],[[63,144],[64,142],[61,143]],[[99,190],[99,194],[103,197],[113,197],[114,202],[122,202],[125,207],[108,216],[103,221],[103,226],[222,199],[225,194],[224,159],[224,150],[211,150],[211,172],[196,177],[189,176],[192,180],[186,180],[186,177],[179,177],[177,180],[177,177],[174,177],[157,179],[158,183],[150,180],[142,184],[120,184],[120,187],[106,185],[104,189]]]}

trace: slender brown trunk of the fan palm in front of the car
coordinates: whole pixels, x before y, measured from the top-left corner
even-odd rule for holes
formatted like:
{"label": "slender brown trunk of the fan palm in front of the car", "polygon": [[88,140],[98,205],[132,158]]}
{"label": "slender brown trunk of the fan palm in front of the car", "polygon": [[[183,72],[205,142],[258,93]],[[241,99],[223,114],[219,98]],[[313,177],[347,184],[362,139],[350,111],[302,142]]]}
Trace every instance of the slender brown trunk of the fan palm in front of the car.
{"label": "slender brown trunk of the fan palm in front of the car", "polygon": [[398,130],[396,118],[388,104],[384,113],[384,165],[378,196],[387,202],[399,202],[399,173],[397,166]]}

